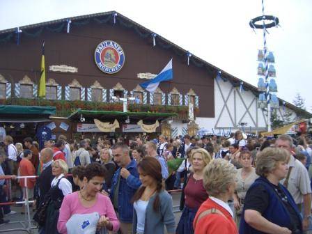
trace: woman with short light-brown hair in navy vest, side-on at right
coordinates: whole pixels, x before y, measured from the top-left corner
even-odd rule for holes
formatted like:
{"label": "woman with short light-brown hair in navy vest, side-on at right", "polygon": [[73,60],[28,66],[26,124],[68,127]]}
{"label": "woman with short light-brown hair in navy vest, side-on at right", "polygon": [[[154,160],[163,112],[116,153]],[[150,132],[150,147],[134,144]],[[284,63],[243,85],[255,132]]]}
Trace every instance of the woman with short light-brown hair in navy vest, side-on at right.
{"label": "woman with short light-brown hair in navy vest, side-on at right", "polygon": [[290,153],[268,147],[256,157],[260,176],[248,189],[240,221],[240,233],[303,233],[297,205],[279,182],[288,175]]}

